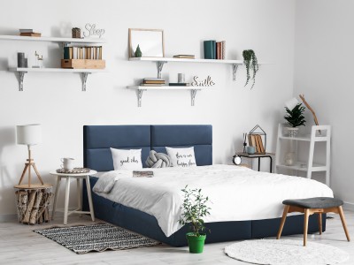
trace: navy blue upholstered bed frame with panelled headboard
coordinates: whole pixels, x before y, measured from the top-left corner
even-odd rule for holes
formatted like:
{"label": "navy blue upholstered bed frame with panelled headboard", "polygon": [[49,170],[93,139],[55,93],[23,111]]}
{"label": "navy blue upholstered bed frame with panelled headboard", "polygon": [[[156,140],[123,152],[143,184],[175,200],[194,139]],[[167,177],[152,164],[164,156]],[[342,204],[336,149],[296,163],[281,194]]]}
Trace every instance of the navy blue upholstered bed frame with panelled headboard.
{"label": "navy blue upholstered bed frame with panelled headboard", "polygon": [[[83,127],[84,166],[97,171],[113,170],[110,148],[142,148],[144,163],[150,150],[165,153],[165,147],[190,146],[195,148],[197,165],[212,164],[212,125],[87,125]],[[90,177],[91,187],[96,184],[96,181],[97,178]],[[83,208],[87,209],[89,206],[85,185],[83,189]],[[186,226],[166,238],[154,216],[104,199],[96,193],[92,194],[96,218],[171,246],[187,245]],[[208,234],[206,243],[275,236],[280,220],[281,218],[207,223],[207,227],[212,232]],[[303,216],[289,216],[282,235],[303,233],[303,222]],[[325,215],[323,215],[323,230],[326,230]],[[317,216],[310,216],[308,231],[319,231]]]}

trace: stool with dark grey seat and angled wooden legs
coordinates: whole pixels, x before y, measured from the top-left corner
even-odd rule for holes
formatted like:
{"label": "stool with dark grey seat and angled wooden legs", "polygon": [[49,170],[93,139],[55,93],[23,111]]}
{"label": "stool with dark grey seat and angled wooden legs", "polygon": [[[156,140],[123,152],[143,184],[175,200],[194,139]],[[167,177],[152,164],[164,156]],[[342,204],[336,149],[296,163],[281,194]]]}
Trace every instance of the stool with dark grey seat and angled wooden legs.
{"label": "stool with dark grey seat and angled wooden legs", "polygon": [[342,200],[329,197],[315,197],[299,200],[285,200],[282,201],[282,204],[284,204],[285,206],[281,217],[281,226],[279,227],[277,239],[281,238],[281,231],[284,227],[284,223],[288,213],[300,212],[304,213],[304,246],[306,246],[307,241],[307,227],[309,223],[309,216],[313,214],[319,215],[319,234],[322,234],[322,214],[339,214],[339,216],[341,217],[345,236],[347,237],[348,241],[350,241],[347,224],[345,223],[345,217],[342,211]]}

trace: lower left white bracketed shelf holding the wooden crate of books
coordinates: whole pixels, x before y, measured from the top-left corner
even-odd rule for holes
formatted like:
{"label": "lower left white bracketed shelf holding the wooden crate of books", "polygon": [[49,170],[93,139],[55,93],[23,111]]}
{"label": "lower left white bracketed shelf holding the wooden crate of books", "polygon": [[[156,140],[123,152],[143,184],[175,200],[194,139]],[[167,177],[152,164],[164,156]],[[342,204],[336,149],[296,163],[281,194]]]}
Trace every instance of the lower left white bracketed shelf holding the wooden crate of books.
{"label": "lower left white bracketed shelf holding the wooden crate of books", "polygon": [[27,72],[79,72],[82,77],[82,91],[86,91],[86,83],[90,73],[95,72],[107,72],[104,69],[65,69],[65,68],[21,68],[12,67],[9,68],[11,72],[17,72],[19,74],[19,91],[23,91],[23,80],[25,73]]}

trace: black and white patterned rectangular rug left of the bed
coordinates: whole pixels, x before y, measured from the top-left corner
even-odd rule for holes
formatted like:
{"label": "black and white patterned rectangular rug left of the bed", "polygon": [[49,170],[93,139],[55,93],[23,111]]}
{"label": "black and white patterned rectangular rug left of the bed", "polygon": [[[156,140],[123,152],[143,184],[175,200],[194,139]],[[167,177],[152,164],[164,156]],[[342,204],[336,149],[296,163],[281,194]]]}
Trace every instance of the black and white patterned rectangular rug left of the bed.
{"label": "black and white patterned rectangular rug left of the bed", "polygon": [[109,223],[52,227],[44,230],[35,230],[35,232],[56,241],[76,254],[86,254],[90,251],[103,252],[107,249],[121,250],[158,246],[161,244],[158,241],[147,239]]}

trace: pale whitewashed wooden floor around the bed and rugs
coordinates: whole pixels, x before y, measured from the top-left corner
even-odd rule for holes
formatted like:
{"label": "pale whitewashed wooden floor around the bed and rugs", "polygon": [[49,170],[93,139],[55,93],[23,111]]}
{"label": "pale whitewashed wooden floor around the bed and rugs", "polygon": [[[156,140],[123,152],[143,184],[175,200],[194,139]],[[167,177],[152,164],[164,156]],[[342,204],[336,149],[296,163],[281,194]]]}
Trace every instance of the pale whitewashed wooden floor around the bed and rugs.
{"label": "pale whitewashed wooden floor around the bed and rugs", "polygon": [[[345,211],[351,239],[354,239],[354,212]],[[74,254],[64,246],[33,232],[35,229],[61,224],[60,217],[45,225],[0,223],[0,264],[249,264],[228,258],[223,249],[231,242],[209,244],[204,254],[189,254],[187,247],[157,246],[124,251]],[[88,216],[69,216],[69,225],[93,223]],[[281,237],[302,241],[303,235]],[[342,264],[354,264],[354,243],[345,239],[338,216],[327,220],[327,231],[321,236],[309,235],[308,242],[337,246],[350,254]]]}

